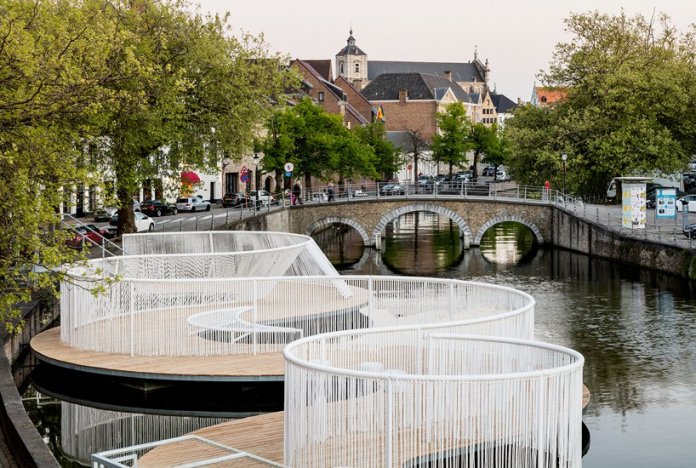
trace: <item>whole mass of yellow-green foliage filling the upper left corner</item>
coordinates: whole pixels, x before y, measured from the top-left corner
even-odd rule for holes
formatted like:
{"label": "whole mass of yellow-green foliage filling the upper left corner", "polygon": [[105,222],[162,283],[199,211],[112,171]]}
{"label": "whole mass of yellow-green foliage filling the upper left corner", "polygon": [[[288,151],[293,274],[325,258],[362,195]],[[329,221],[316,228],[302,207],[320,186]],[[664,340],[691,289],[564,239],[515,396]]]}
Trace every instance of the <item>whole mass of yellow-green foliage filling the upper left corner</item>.
{"label": "whole mass of yellow-green foliage filling the upper left corner", "polygon": [[[79,187],[116,180],[119,219],[149,177],[248,148],[281,57],[183,1],[0,2],[0,320],[84,259],[60,229]],[[125,226],[119,229],[124,231]],[[132,227],[131,227],[132,229]],[[54,291],[55,292],[55,291]]]}

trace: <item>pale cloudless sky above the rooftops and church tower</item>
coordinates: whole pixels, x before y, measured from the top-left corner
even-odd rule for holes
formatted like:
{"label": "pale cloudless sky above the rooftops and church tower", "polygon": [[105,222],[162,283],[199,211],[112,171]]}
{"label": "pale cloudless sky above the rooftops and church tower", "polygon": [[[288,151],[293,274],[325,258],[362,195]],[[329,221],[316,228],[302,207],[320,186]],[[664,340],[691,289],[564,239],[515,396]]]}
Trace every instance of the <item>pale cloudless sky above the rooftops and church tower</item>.
{"label": "pale cloudless sky above the rooftops and church tower", "polygon": [[[192,0],[196,1],[196,0]],[[651,17],[666,13],[686,31],[694,0],[198,0],[201,12],[230,13],[235,33],[263,34],[270,50],[291,58],[331,59],[352,27],[368,60],[470,62],[475,48],[489,60],[491,86],[528,101],[554,47],[572,39],[563,20],[598,10]],[[335,72],[335,70],[334,70]]]}

